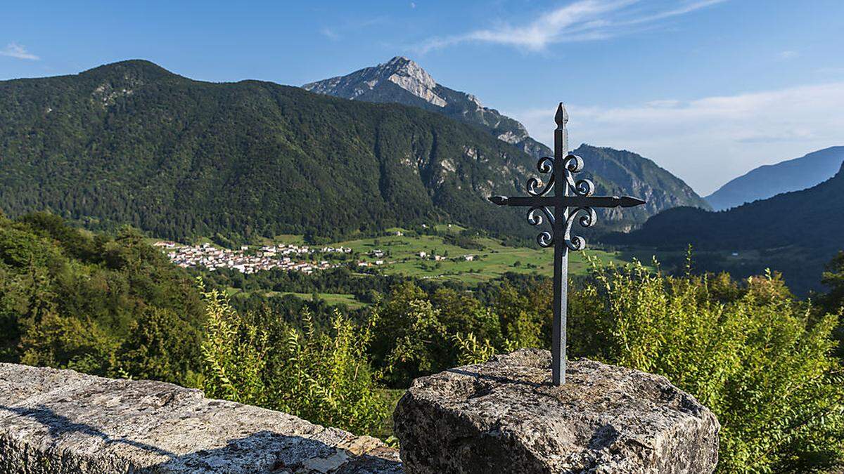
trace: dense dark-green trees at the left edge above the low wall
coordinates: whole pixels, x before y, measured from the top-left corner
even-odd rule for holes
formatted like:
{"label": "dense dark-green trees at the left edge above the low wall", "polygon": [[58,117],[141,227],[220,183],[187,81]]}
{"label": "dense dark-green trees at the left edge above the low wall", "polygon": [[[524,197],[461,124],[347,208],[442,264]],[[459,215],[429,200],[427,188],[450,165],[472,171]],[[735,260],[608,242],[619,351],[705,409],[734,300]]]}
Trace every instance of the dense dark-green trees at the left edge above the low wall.
{"label": "dense dark-green trees at the left edge above the low wall", "polygon": [[193,385],[202,317],[185,272],[132,229],[0,216],[0,360]]}

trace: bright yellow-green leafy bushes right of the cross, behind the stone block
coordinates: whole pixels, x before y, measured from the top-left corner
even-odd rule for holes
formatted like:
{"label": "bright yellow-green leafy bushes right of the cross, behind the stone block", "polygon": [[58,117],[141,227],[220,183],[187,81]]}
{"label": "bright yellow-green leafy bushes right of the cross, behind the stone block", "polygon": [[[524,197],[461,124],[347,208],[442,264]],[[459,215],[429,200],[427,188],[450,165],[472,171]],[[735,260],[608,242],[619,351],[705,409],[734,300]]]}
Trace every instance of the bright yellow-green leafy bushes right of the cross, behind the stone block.
{"label": "bright yellow-green leafy bushes right of the cross, behind the stone block", "polygon": [[810,471],[841,459],[844,379],[830,332],[781,277],[668,277],[596,267],[570,310],[573,351],[663,374],[717,414],[722,472]]}

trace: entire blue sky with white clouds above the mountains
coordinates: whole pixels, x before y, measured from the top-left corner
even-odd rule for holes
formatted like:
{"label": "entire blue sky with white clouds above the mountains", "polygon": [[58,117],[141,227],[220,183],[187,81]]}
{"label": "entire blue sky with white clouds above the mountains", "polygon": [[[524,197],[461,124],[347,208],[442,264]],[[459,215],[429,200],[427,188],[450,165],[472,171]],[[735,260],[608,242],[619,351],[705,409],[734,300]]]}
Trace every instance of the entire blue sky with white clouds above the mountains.
{"label": "entire blue sky with white clouds above the mountains", "polygon": [[844,144],[841,0],[54,2],[0,7],[0,79],[144,58],[300,85],[403,55],[549,142],[627,148],[708,194]]}

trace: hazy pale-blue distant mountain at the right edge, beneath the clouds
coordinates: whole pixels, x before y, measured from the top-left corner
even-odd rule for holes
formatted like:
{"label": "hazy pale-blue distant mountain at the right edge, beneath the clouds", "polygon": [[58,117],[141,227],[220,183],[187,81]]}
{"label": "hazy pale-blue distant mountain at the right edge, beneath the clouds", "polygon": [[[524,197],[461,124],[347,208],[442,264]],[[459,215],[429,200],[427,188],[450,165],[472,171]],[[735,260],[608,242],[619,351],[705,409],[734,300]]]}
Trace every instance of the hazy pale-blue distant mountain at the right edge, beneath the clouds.
{"label": "hazy pale-blue distant mountain at the right edge, beneath the clouds", "polygon": [[830,147],[800,158],[766,164],[729,181],[707,196],[706,201],[720,211],[781,192],[806,189],[835,175],[842,161],[844,147]]}

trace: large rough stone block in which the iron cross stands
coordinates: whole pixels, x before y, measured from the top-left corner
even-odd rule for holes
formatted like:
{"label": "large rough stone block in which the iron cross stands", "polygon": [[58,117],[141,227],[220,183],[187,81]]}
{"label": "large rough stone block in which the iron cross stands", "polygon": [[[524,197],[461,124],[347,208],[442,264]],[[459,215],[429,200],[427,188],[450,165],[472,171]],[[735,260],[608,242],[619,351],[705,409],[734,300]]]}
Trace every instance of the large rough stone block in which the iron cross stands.
{"label": "large rough stone block in which the iron cross stands", "polygon": [[706,473],[718,421],[664,377],[522,349],[414,380],[393,415],[409,473]]}

